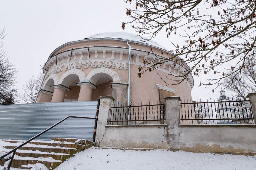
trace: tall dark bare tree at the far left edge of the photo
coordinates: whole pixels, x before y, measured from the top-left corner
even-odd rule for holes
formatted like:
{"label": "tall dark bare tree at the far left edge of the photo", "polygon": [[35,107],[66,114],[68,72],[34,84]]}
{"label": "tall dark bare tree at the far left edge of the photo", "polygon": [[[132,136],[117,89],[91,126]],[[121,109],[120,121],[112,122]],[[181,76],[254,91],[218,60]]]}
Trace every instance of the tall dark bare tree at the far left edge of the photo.
{"label": "tall dark bare tree at the far left edge of the photo", "polygon": [[3,50],[5,30],[0,30],[0,104],[14,104],[17,90],[13,88],[16,69]]}

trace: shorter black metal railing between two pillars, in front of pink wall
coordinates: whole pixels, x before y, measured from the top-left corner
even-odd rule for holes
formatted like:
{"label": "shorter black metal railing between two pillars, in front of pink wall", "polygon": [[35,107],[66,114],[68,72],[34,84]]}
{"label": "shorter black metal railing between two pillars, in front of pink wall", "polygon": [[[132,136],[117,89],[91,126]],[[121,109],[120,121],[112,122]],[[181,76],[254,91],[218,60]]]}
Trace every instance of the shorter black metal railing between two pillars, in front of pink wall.
{"label": "shorter black metal railing between two pillars, in front of pink wall", "polygon": [[153,102],[113,104],[108,115],[108,125],[156,125],[165,124],[165,120],[164,104]]}

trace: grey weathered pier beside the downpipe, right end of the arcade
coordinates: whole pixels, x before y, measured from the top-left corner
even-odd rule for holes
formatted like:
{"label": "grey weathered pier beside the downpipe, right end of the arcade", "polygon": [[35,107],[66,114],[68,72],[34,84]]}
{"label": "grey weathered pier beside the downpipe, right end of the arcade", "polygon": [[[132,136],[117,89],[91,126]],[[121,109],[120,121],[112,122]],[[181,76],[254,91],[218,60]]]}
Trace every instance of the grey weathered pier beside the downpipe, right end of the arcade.
{"label": "grey weathered pier beside the downpipe, right end of the arcade", "polygon": [[120,102],[120,104],[127,103],[127,87],[128,84],[126,83],[111,83],[111,86],[113,88],[112,96],[116,100],[114,101],[114,104],[117,104],[117,101]]}

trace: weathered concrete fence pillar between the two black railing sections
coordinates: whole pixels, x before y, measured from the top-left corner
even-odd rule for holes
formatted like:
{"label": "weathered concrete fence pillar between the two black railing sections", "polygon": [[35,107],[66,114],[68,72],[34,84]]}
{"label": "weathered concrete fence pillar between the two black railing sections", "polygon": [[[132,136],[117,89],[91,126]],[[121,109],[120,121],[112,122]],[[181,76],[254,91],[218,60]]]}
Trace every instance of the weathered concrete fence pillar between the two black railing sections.
{"label": "weathered concrete fence pillar between the two black railing sections", "polygon": [[166,102],[166,124],[165,135],[160,148],[166,149],[180,149],[180,110],[179,96],[165,97]]}

